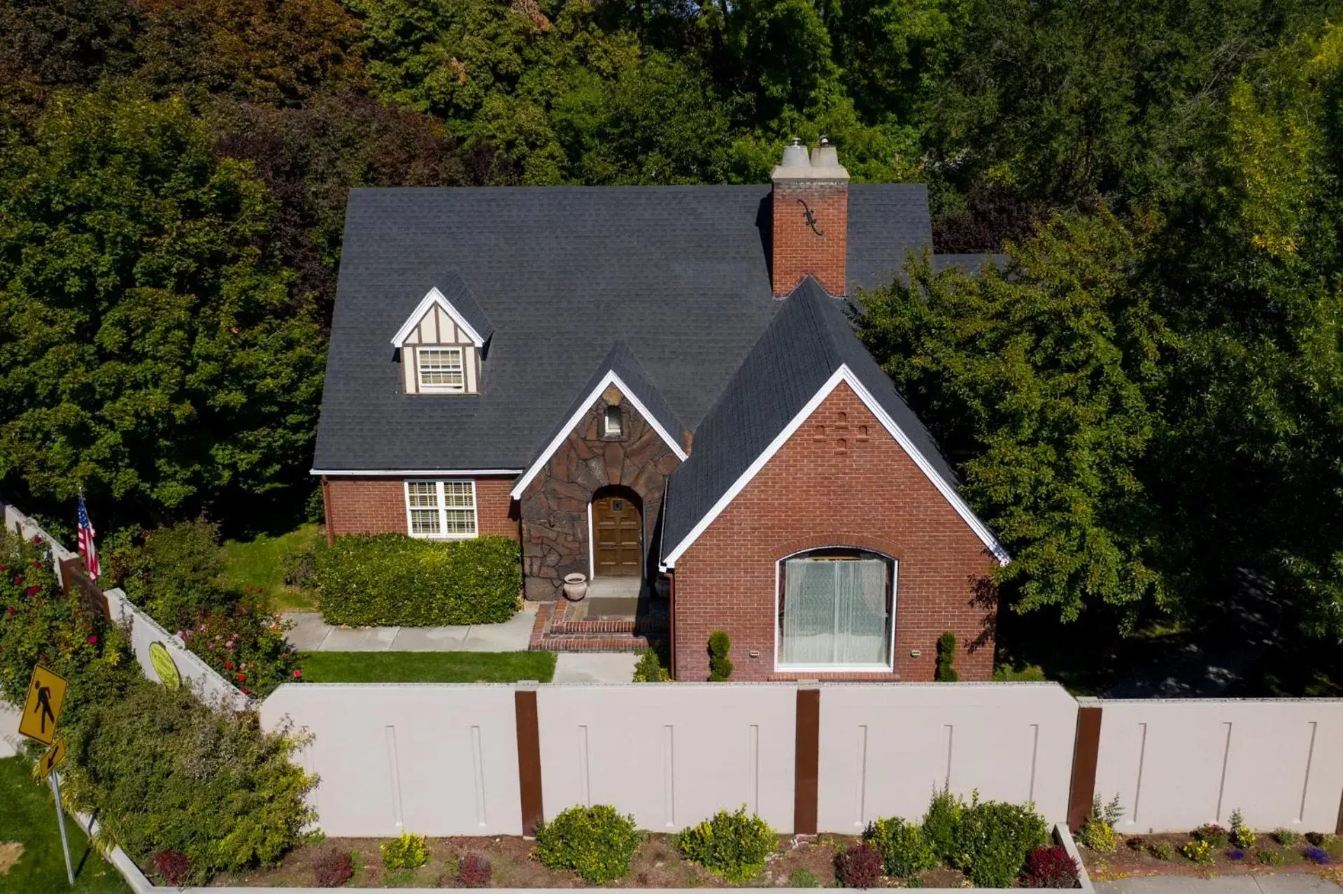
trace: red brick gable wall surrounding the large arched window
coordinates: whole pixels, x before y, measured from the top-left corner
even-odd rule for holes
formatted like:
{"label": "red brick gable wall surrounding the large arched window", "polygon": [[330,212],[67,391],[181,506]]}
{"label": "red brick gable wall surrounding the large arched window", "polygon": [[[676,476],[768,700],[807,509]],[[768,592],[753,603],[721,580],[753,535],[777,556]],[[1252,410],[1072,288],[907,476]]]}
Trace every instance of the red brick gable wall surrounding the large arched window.
{"label": "red brick gable wall surrounding the large arched window", "polygon": [[[775,673],[775,566],[826,545],[898,561],[894,673]],[[976,593],[986,592],[992,568],[983,542],[841,383],[677,560],[677,679],[708,677],[714,630],[731,634],[740,681],[931,681],[937,638],[948,630],[956,634],[960,679],[990,679],[997,609]],[[911,650],[921,655],[912,658]]]}

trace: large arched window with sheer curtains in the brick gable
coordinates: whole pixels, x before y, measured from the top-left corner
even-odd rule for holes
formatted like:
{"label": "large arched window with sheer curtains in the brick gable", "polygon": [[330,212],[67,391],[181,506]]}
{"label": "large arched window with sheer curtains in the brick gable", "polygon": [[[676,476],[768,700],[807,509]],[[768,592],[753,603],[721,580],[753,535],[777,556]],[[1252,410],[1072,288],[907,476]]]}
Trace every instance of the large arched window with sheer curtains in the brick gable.
{"label": "large arched window with sheer curtains in the brick gable", "polygon": [[890,666],[893,560],[866,550],[817,549],[780,565],[778,666]]}

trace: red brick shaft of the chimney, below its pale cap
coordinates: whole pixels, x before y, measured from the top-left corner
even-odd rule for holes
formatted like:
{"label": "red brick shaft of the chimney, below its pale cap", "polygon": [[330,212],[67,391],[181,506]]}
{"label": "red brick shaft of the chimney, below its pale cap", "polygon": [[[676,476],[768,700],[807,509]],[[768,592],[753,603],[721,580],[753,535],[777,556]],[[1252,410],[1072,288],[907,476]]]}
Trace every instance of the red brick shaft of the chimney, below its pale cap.
{"label": "red brick shaft of the chimney, below its pale cap", "polygon": [[[817,217],[818,236],[807,226],[807,203]],[[774,240],[770,258],[774,294],[787,295],[807,274],[815,277],[831,295],[847,295],[845,258],[849,251],[847,183],[786,181],[774,185]]]}

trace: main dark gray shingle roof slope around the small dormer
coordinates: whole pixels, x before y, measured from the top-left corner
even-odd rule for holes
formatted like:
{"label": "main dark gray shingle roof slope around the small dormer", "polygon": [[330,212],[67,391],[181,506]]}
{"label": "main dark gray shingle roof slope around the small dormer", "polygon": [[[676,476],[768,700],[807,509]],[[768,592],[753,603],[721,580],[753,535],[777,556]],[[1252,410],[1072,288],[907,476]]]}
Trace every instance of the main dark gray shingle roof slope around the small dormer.
{"label": "main dark gray shingle roof slope around the small dormer", "polygon": [[[787,303],[768,209],[768,185],[352,191],[314,468],[525,468],[615,341],[696,430]],[[923,185],[849,188],[851,283],[931,239]],[[430,286],[457,306],[447,271],[493,324],[481,395],[402,395],[388,340]]]}

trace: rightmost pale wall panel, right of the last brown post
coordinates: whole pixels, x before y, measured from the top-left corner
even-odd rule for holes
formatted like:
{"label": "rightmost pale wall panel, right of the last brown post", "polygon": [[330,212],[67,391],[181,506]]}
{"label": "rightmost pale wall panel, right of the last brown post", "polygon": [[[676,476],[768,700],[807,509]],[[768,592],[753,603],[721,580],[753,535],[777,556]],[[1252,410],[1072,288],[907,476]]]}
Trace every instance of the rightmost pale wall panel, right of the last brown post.
{"label": "rightmost pale wall panel, right of the last brown post", "polygon": [[1228,824],[1332,832],[1343,791],[1343,701],[1100,701],[1096,793],[1121,834]]}

